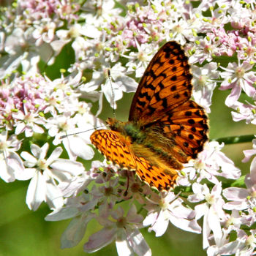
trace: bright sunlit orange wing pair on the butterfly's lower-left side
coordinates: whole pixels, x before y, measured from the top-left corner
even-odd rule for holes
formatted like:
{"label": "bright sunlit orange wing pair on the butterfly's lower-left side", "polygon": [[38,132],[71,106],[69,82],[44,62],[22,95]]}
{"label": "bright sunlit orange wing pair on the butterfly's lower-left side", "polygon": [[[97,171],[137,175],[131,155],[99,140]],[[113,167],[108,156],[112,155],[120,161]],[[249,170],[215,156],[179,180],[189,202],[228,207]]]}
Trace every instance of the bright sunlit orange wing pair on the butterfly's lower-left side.
{"label": "bright sunlit orange wing pair on the butterfly's lower-left side", "polygon": [[164,170],[161,167],[151,165],[150,161],[141,154],[140,156],[135,155],[129,140],[119,132],[99,129],[91,135],[91,143],[113,164],[136,170],[140,179],[151,187],[167,190],[175,184],[177,178],[175,170],[172,172]]}

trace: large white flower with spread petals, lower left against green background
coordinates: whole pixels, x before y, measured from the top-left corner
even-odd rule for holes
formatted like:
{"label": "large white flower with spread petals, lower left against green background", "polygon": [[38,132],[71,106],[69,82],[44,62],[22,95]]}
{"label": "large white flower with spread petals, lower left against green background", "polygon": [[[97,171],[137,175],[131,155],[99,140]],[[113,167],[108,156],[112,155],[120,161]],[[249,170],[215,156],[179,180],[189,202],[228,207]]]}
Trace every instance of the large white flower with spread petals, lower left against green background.
{"label": "large white flower with spread petals, lower left against green background", "polygon": [[49,145],[45,143],[42,148],[32,144],[31,154],[26,151],[20,156],[26,161],[27,167],[17,179],[28,180],[31,178],[26,203],[32,210],[37,210],[42,202],[48,203],[50,208],[61,208],[64,203],[61,189],[58,184],[71,182],[75,177],[83,173],[83,165],[68,159],[60,159],[62,148],[55,148],[48,159],[45,159]]}

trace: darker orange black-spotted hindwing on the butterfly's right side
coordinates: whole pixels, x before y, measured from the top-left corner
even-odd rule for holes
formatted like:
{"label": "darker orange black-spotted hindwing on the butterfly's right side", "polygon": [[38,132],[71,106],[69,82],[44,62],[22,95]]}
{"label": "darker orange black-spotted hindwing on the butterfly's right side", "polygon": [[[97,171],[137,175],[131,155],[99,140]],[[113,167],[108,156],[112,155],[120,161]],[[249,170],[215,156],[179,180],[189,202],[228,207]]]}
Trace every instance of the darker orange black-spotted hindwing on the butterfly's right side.
{"label": "darker orange black-spotted hindwing on the butterfly's right side", "polygon": [[170,154],[179,162],[195,159],[208,140],[208,117],[205,110],[189,100],[152,124],[162,135],[174,141]]}

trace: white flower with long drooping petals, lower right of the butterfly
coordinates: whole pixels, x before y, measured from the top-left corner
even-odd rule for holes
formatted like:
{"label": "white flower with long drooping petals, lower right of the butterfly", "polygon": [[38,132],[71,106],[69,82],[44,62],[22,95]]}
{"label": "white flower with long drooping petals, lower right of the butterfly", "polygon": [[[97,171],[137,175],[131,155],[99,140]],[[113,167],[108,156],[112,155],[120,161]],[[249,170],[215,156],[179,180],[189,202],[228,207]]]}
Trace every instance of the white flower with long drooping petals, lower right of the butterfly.
{"label": "white flower with long drooping petals, lower right of the butterfly", "polygon": [[195,206],[196,219],[203,217],[203,249],[206,249],[210,246],[208,239],[211,231],[215,244],[222,241],[221,221],[225,218],[225,212],[222,209],[225,203],[221,196],[222,186],[220,183],[216,184],[210,192],[206,184],[194,183],[192,189],[195,195],[189,195],[190,202],[197,203],[206,200],[206,203]]}

